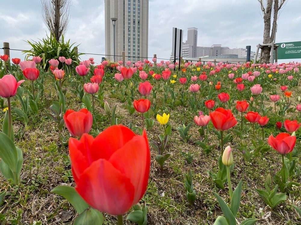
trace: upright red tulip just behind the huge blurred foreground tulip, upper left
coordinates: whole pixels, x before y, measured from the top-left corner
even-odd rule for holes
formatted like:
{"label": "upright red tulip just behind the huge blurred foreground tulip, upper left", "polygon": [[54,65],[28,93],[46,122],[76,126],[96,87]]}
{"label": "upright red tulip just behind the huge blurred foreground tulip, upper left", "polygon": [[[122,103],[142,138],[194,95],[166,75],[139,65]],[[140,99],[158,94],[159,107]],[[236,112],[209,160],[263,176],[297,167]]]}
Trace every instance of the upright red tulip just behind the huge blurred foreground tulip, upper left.
{"label": "upright red tulip just behind the huge blurred foreground tulip, upper left", "polygon": [[81,137],[84,133],[89,133],[92,128],[93,116],[87,109],[78,112],[67,110],[64,115],[66,127],[73,137]]}

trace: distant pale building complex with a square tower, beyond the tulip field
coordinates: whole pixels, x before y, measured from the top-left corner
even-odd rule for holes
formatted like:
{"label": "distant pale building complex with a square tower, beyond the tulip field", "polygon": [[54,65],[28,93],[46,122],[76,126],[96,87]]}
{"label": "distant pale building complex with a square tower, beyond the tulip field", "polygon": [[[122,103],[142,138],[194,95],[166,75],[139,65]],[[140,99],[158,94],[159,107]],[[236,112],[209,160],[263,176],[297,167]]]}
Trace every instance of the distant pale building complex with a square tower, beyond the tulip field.
{"label": "distant pale building complex with a square tower, beyond the tulip field", "polygon": [[[230,49],[229,47],[222,47],[221,44],[214,44],[211,47],[197,46],[197,28],[188,28],[187,41],[182,44],[182,58],[217,57],[222,55],[237,55],[237,58],[246,58],[247,49]],[[251,58],[254,57],[255,52],[251,52]],[[173,59],[173,55],[170,58]]]}

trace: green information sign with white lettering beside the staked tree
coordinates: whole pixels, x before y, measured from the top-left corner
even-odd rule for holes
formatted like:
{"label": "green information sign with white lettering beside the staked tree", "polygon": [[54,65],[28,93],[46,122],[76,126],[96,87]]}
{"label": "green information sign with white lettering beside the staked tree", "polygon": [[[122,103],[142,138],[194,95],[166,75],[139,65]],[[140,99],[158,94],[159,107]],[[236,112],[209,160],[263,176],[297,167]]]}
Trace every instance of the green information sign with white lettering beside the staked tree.
{"label": "green information sign with white lettering beside the staked tree", "polygon": [[276,43],[278,47],[278,59],[301,58],[301,41]]}

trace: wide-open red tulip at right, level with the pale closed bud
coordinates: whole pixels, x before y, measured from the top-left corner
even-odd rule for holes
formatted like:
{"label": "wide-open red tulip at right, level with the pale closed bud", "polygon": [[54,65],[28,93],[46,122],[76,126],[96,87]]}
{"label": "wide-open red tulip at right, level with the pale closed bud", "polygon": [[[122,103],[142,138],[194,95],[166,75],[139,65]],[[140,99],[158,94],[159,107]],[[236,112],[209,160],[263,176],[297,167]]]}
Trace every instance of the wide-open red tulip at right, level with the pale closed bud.
{"label": "wide-open red tulip at right, level with the pale closed bud", "polygon": [[271,134],[268,144],[280,154],[287,154],[293,151],[296,144],[296,137],[287,133],[280,133],[276,138]]}

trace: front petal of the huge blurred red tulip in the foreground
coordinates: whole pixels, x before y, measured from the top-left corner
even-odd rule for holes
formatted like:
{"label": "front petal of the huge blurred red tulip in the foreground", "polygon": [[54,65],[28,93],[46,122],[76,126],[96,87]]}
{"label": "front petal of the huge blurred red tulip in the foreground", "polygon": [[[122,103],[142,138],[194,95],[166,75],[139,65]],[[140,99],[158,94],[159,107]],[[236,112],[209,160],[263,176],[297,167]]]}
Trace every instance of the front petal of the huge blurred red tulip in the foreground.
{"label": "front petal of the huge blurred red tulip in the foreground", "polygon": [[107,160],[94,161],[76,184],[79,195],[99,211],[122,215],[132,206],[135,189],[130,179]]}

